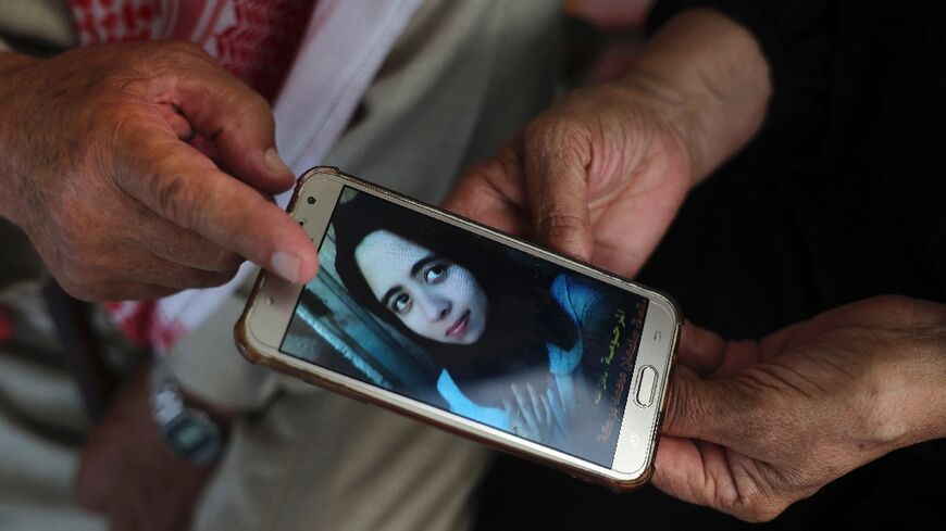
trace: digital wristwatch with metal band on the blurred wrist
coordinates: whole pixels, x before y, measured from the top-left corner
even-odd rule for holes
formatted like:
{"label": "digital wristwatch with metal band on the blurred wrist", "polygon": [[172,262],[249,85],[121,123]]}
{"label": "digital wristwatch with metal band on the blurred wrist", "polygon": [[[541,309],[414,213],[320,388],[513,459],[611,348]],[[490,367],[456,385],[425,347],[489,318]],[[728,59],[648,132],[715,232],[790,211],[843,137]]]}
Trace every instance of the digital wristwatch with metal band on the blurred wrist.
{"label": "digital wristwatch with metal band on the blurred wrist", "polygon": [[151,369],[151,414],[167,450],[200,466],[223,453],[225,431],[207,412],[188,404],[174,375],[162,359]]}

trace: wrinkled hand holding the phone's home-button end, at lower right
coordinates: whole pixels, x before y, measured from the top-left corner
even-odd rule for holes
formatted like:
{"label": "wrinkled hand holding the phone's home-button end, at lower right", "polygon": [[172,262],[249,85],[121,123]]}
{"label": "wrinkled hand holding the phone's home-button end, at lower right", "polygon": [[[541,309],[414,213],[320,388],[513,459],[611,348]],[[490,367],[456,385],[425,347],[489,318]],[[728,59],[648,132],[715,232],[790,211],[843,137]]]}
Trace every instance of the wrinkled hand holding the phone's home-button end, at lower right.
{"label": "wrinkled hand holding the phone's home-button end, at lower right", "polygon": [[946,431],[942,304],[870,299],[760,342],[687,327],[680,356],[654,483],[742,519]]}

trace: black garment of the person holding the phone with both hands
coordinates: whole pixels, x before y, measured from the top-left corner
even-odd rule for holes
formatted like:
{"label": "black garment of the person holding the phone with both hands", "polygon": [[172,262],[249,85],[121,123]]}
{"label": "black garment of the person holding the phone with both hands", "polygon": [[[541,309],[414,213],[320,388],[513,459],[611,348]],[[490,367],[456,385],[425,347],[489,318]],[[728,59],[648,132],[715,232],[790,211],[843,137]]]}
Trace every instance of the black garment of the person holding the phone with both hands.
{"label": "black garment of the person holding the phone with both hands", "polygon": [[[946,302],[946,4],[686,1],[748,27],[773,68],[763,131],[696,189],[640,275],[694,323],[758,338],[882,293]],[[944,405],[946,407],[946,405]],[[889,454],[752,529],[946,529],[946,446]],[[503,457],[481,529],[742,529],[648,486],[614,495]]]}

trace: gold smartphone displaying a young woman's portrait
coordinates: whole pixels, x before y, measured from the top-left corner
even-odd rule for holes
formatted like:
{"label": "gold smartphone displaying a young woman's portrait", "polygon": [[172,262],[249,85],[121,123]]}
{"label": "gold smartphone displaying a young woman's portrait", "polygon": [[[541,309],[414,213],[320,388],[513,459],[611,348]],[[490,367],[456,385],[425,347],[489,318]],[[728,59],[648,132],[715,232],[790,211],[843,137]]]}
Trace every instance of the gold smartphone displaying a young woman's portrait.
{"label": "gold smartphone displaying a young woman's portrait", "polygon": [[260,274],[247,358],[615,490],[649,479],[682,323],[667,296],[336,168],[307,172],[289,212],[320,270]]}

